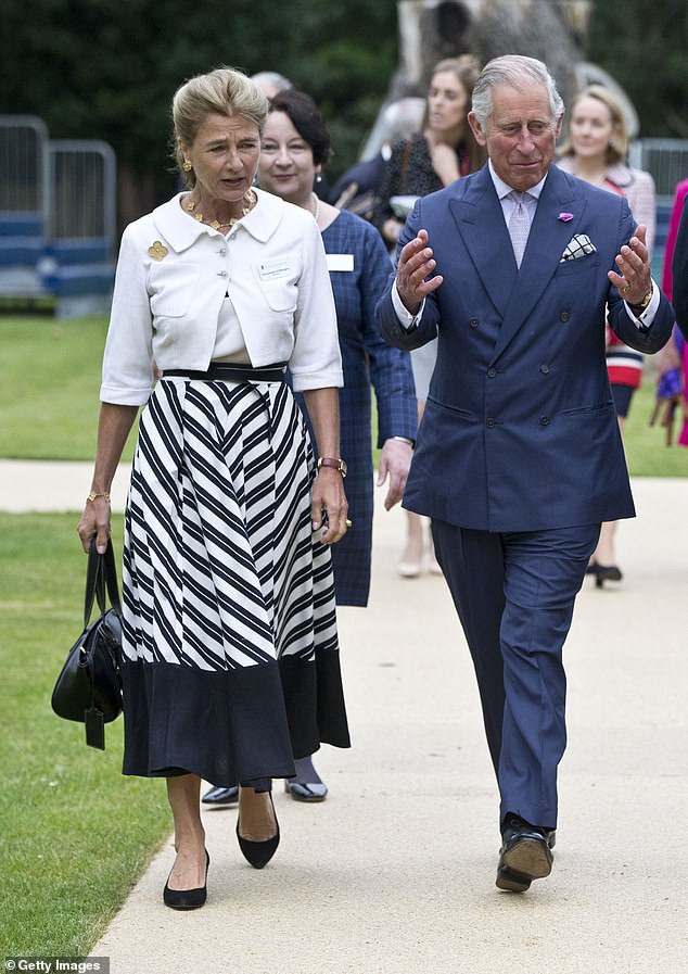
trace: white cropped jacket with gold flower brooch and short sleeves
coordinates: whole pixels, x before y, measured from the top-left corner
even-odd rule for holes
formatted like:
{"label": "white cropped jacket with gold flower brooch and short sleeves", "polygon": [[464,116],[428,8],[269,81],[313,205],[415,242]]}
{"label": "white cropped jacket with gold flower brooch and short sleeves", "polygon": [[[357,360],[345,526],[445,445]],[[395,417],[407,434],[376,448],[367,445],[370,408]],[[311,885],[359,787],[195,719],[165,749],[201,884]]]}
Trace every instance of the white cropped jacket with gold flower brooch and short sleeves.
{"label": "white cropped jacket with gold flower brooch and short sleeves", "polygon": [[289,362],[296,391],[341,387],[334,300],[313,216],[264,190],[224,237],[180,206],[182,193],[122,238],[100,399],[143,405],[153,363],[204,370],[226,294],[251,363]]}

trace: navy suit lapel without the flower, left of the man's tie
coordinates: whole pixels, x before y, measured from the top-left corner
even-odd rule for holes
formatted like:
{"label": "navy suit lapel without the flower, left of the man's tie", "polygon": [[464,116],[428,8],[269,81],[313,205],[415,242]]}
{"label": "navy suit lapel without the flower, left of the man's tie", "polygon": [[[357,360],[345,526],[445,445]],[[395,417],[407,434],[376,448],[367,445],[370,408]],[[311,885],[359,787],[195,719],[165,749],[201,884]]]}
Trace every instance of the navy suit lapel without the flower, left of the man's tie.
{"label": "navy suit lapel without the flower, left of the man's tie", "polygon": [[517,266],[501,203],[487,166],[475,174],[462,195],[449,201],[449,211],[483,287],[504,316],[515,282]]}

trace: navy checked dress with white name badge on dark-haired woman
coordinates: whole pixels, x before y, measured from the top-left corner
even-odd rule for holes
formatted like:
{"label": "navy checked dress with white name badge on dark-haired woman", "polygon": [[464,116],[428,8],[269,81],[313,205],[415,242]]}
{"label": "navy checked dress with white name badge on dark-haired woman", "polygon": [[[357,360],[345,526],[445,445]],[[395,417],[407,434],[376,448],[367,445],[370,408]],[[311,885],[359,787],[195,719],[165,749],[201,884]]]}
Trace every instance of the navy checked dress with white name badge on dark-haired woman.
{"label": "navy checked dress with white name badge on dark-haired woman", "polygon": [[344,388],[340,390],[340,447],[348,465],[344,483],[353,527],[332,546],[337,605],[365,606],[370,589],[373,467],[371,387],[378,405],[378,445],[390,437],[416,439],[416,389],[408,353],[380,337],[375,304],[385,290],[391,264],[378,230],[342,211],[322,242],[332,266],[352,262],[353,269],[330,270],[334,292]]}

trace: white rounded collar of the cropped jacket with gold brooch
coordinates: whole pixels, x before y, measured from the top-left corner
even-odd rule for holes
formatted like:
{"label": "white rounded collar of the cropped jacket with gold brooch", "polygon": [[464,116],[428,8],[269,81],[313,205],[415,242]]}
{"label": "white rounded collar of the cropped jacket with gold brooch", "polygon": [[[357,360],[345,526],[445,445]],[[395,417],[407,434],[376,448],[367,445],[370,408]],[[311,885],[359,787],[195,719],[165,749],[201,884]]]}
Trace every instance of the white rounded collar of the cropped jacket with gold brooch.
{"label": "white rounded collar of the cropped jacket with gold brooch", "polygon": [[[251,213],[242,218],[241,225],[237,225],[231,232],[241,232],[241,226],[256,240],[265,243],[278,228],[286,204],[279,197],[263,189],[254,187],[253,191],[258,198],[257,204]],[[181,208],[181,200],[186,195],[187,193],[177,193],[171,200],[153,211],[155,227],[173,250],[181,253],[181,251],[188,250],[204,235],[225,239],[224,233],[220,233],[219,230],[214,230],[212,227],[199,223]]]}

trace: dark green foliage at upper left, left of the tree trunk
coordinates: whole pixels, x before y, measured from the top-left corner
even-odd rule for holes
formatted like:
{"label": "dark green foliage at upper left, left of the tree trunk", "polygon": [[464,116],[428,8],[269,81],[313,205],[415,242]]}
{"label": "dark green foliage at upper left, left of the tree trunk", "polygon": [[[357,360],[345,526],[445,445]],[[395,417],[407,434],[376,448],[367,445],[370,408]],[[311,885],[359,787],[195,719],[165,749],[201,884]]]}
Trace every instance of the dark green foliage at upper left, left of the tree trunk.
{"label": "dark green foliage at upper left, left of the tree trunk", "polygon": [[38,115],[52,138],[104,139],[163,199],[175,186],[171,97],[221,64],[279,71],[310,91],[335,123],[336,175],[386,90],[397,25],[394,3],[361,0],[35,0],[30,17],[23,0],[3,0],[3,35],[0,111]]}

